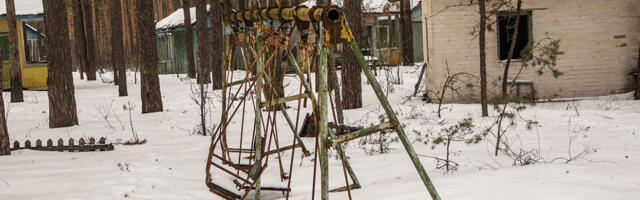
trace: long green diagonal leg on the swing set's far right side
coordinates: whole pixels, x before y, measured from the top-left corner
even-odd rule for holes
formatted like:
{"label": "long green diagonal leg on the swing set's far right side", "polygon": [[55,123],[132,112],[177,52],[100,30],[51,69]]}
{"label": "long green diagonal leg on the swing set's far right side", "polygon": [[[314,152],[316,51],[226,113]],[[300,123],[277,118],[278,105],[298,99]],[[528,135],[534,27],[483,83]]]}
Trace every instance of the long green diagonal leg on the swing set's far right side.
{"label": "long green diagonal leg on the swing set's far right side", "polygon": [[391,123],[394,123],[396,132],[398,134],[398,138],[402,142],[402,145],[407,151],[407,154],[409,154],[409,158],[411,158],[411,162],[413,163],[413,166],[418,171],[418,174],[420,175],[422,182],[424,183],[425,187],[427,187],[427,191],[429,191],[429,195],[431,195],[431,198],[433,200],[440,200],[440,195],[438,195],[438,192],[436,191],[436,188],[433,185],[433,182],[429,178],[429,175],[427,174],[427,172],[424,170],[424,167],[420,162],[420,158],[418,158],[418,156],[416,155],[416,151],[413,149],[413,146],[411,145],[411,141],[409,141],[409,138],[405,134],[404,129],[400,125],[398,117],[393,112],[393,108],[391,108],[391,105],[389,104],[389,100],[387,100],[387,97],[382,92],[382,88],[380,87],[380,84],[376,80],[376,77],[373,75],[373,73],[371,73],[371,67],[367,65],[367,62],[364,59],[364,56],[362,55],[362,51],[360,51],[360,47],[358,47],[358,44],[355,41],[350,42],[349,47],[351,48],[351,51],[356,56],[356,59],[358,60],[358,64],[360,64],[360,67],[362,67],[362,71],[367,77],[367,80],[369,81],[371,88],[373,88],[373,91],[375,92],[376,97],[380,101],[382,108],[384,108],[384,111],[387,113],[387,117],[389,117],[389,120],[391,120]]}

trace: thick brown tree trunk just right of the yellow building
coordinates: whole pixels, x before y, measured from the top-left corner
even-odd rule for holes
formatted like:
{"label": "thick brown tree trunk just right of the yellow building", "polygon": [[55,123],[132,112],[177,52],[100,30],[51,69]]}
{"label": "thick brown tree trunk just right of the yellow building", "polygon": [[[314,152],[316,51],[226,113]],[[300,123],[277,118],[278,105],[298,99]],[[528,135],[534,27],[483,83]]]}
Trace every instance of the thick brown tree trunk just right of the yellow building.
{"label": "thick brown tree trunk just right of the yellow building", "polygon": [[67,10],[57,0],[43,0],[43,4],[49,62],[49,127],[77,125]]}

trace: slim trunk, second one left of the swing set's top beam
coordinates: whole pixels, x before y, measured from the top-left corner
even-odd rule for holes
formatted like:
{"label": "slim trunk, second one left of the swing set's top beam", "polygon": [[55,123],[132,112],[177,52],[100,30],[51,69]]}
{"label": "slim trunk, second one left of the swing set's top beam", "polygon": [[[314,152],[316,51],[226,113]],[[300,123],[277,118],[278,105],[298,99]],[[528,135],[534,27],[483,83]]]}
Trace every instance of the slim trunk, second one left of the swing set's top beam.
{"label": "slim trunk, second one left of the swing set's top beam", "polygon": [[196,36],[198,37],[198,84],[211,82],[209,71],[209,30],[207,27],[207,1],[196,0]]}

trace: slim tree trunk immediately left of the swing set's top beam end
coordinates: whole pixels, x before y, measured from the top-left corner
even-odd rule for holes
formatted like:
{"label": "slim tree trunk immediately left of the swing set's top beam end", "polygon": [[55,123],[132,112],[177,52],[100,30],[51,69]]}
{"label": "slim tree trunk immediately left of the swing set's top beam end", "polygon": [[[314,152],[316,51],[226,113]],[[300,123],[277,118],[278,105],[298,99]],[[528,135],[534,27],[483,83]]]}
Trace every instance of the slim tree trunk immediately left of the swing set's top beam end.
{"label": "slim tree trunk immediately left of the swing set's top beam end", "polygon": [[[200,20],[198,20],[200,21]],[[222,27],[222,4],[219,0],[211,0],[211,86],[214,90],[222,89],[222,36],[224,27]],[[226,49],[224,49],[226,50]]]}

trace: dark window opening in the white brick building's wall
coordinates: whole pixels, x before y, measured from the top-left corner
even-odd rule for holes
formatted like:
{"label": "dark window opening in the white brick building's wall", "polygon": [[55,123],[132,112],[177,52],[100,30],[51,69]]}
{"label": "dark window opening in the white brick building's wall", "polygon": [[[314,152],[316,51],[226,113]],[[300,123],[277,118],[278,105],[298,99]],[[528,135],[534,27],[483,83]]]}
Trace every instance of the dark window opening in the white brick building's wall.
{"label": "dark window opening in the white brick building's wall", "polygon": [[[509,57],[511,41],[516,24],[516,13],[498,14],[498,56],[500,60]],[[531,41],[531,12],[521,12],[519,14],[520,24],[518,25],[518,37],[515,39],[516,46],[512,59],[520,59],[520,54]]]}

